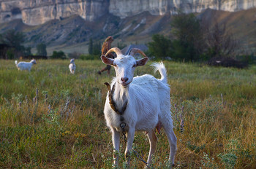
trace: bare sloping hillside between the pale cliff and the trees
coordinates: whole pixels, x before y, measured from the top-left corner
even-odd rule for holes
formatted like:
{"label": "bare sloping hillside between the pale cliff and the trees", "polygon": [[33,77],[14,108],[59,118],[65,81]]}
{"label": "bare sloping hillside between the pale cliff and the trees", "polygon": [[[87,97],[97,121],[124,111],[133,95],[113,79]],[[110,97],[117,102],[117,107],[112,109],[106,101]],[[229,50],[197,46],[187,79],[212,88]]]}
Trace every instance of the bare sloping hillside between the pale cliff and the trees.
{"label": "bare sloping hillside between the pale cliff and the trees", "polygon": [[[197,16],[209,25],[214,24],[215,20],[226,23],[227,29],[238,39],[239,50],[255,51],[256,8],[238,12],[206,9]],[[151,15],[149,12],[124,19],[108,14],[94,22],[72,15],[33,26],[24,24],[22,20],[12,20],[0,24],[0,34],[10,28],[23,31],[26,34],[26,46],[36,47],[45,42],[48,54],[53,50],[86,53],[90,38],[102,42],[106,36],[112,35],[116,39],[113,46],[116,46],[118,42],[146,44],[151,41],[153,34],[170,36],[170,22],[171,15]]]}

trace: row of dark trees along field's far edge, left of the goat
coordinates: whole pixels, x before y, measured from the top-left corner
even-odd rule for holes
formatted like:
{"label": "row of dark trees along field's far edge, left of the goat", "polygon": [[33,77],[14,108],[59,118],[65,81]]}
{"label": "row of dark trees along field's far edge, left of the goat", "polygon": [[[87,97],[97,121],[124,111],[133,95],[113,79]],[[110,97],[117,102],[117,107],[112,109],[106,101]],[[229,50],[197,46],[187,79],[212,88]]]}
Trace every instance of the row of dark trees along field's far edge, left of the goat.
{"label": "row of dark trees along field's far edge, left of the goat", "polygon": [[[3,59],[16,59],[16,58],[29,58],[29,56],[37,56],[39,58],[47,58],[47,45],[42,42],[37,44],[37,53],[31,53],[31,47],[24,47],[26,35],[23,32],[10,29],[4,34],[0,34],[0,58]],[[69,57],[63,51],[53,51],[49,58],[65,59],[65,58],[81,58],[81,59],[94,59],[99,58],[101,54],[101,43],[89,40],[89,55],[78,54],[76,52],[69,54]]]}

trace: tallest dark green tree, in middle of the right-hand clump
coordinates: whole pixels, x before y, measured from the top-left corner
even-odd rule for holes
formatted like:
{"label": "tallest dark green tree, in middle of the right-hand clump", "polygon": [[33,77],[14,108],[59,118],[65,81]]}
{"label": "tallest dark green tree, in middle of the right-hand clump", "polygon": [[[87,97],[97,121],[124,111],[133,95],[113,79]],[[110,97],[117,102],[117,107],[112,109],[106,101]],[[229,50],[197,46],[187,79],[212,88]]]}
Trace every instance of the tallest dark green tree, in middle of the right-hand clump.
{"label": "tallest dark green tree, in middle of the right-hand clump", "polygon": [[194,14],[185,14],[179,11],[173,16],[171,23],[173,41],[173,58],[176,60],[198,60],[200,57],[200,44],[202,35],[200,21]]}

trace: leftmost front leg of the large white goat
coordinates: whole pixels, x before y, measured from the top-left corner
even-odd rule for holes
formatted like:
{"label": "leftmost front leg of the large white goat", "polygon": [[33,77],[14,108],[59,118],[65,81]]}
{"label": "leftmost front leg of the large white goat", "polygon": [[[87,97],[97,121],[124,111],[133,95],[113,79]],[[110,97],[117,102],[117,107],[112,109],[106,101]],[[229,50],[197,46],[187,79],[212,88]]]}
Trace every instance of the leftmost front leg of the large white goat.
{"label": "leftmost front leg of the large white goat", "polygon": [[119,147],[120,147],[120,133],[115,129],[111,128],[112,131],[112,142],[113,142],[113,159],[114,159],[114,165],[118,166],[118,154],[119,154]]}

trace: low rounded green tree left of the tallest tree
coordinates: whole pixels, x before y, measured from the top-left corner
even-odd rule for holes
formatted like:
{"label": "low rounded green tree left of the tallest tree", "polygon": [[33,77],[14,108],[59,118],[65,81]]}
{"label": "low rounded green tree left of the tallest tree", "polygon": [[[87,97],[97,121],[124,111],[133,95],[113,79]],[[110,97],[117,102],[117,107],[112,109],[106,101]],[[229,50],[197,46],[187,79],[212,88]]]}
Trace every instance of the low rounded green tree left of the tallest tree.
{"label": "low rounded green tree left of the tallest tree", "polygon": [[152,36],[153,42],[148,43],[148,52],[158,59],[165,59],[172,55],[172,42],[160,34]]}

